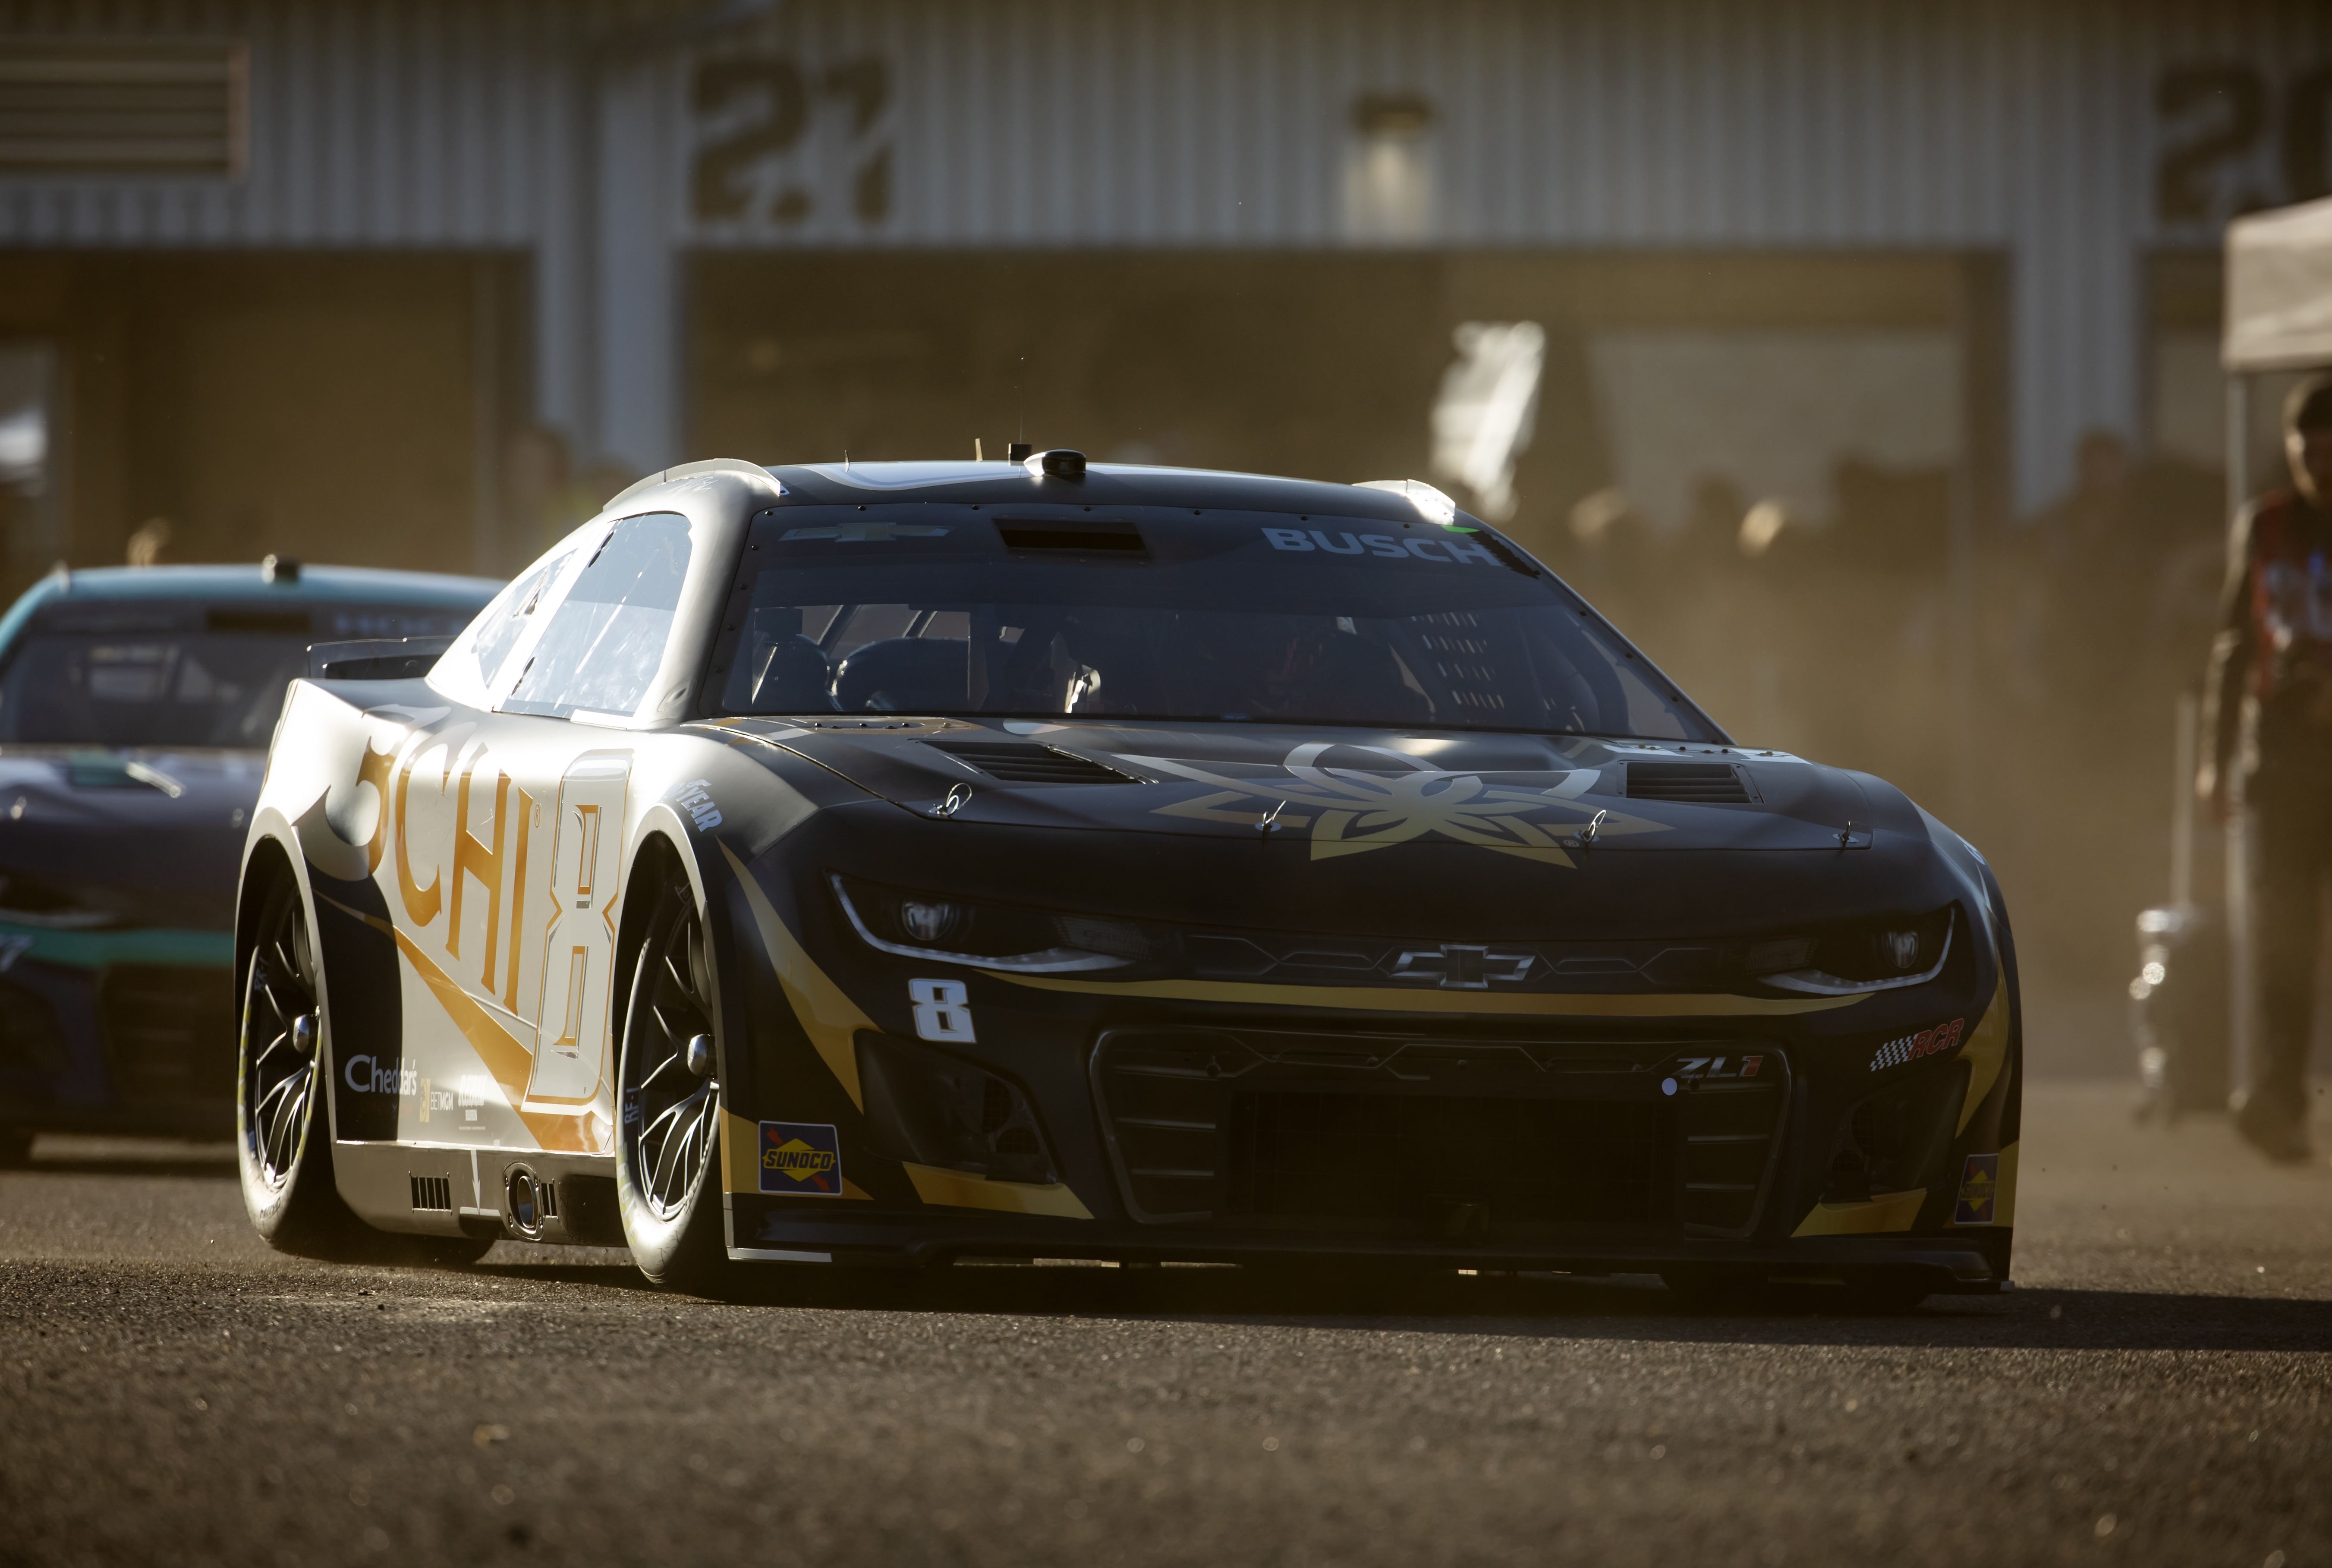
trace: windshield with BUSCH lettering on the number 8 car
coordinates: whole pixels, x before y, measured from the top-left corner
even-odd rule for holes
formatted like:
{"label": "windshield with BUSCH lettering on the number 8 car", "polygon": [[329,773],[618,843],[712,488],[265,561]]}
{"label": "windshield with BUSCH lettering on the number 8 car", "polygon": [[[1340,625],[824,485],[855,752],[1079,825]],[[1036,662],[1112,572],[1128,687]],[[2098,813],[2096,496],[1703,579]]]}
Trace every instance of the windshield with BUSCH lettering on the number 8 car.
{"label": "windshield with BUSCH lettering on the number 8 car", "polygon": [[1000,714],[1716,740],[1471,525],[944,504],[756,518],[723,714]]}

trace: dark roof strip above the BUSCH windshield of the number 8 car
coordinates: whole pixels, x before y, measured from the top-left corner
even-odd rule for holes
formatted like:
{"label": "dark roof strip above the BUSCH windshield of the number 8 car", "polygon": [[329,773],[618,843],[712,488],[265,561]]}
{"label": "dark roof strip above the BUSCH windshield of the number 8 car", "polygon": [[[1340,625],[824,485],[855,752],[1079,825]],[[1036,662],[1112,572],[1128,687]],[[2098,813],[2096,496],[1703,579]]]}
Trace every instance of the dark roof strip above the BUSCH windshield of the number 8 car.
{"label": "dark roof strip above the BUSCH windshield of the number 8 car", "polygon": [[1192,506],[1222,511],[1318,511],[1383,523],[1416,520],[1418,509],[1392,490],[1318,478],[1164,469],[1136,462],[1087,464],[1082,481],[1035,478],[1017,462],[802,462],[770,476],[809,504],[877,502],[1024,502],[1091,506]]}

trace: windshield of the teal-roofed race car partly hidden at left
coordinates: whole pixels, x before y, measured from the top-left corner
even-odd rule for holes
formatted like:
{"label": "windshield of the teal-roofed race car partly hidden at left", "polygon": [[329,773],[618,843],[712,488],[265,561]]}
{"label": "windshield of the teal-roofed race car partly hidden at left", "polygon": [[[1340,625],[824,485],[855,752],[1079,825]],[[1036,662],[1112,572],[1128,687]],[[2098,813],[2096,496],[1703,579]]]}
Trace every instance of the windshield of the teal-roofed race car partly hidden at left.
{"label": "windshield of the teal-roofed race car partly hidden at left", "polygon": [[[466,611],[333,607],[72,607],[35,621],[0,670],[0,742],[77,747],[268,744],[308,644],[455,632]],[[361,630],[347,630],[361,628]]]}

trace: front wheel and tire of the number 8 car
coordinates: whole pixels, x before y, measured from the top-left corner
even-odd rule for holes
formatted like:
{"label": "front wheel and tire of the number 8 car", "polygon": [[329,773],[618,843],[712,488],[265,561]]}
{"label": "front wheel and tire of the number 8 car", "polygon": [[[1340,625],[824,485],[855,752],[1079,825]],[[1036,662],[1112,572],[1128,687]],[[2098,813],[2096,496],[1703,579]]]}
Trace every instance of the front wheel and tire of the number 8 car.
{"label": "front wheel and tire of the number 8 car", "polygon": [[[653,891],[651,891],[653,889]],[[616,1206],[651,1283],[695,1295],[732,1286],[721,1202],[721,1048],[711,945],[679,866],[637,891],[644,922],[616,1062]],[[637,896],[637,894],[634,894]]]}

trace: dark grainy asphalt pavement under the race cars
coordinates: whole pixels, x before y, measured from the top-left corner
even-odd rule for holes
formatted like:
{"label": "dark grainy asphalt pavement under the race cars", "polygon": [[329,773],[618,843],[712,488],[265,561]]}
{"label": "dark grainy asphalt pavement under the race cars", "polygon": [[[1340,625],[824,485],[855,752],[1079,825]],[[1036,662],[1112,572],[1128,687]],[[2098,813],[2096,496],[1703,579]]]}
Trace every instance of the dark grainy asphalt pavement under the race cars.
{"label": "dark grainy asphalt pavement under the race cars", "polygon": [[215,1150],[51,1139],[0,1174],[0,1561],[2332,1563],[2332,1169],[2127,1106],[2031,1085],[2017,1293],[1894,1318],[326,1267]]}

